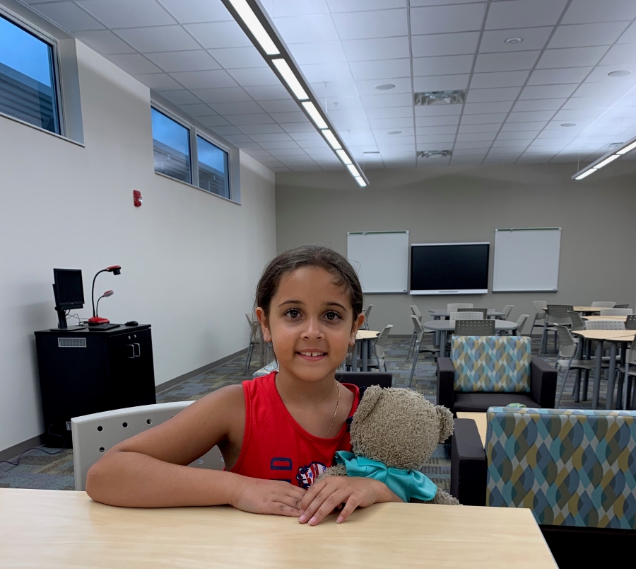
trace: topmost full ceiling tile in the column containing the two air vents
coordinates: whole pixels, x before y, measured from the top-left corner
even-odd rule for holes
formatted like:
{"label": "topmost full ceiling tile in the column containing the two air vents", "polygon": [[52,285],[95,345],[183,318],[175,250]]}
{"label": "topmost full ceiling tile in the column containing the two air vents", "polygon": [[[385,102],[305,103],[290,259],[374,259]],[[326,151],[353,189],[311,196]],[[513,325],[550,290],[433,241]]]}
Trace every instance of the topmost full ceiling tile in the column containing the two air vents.
{"label": "topmost full ceiling tile in the column containing the two air vents", "polygon": [[411,8],[411,34],[481,30],[485,4]]}

